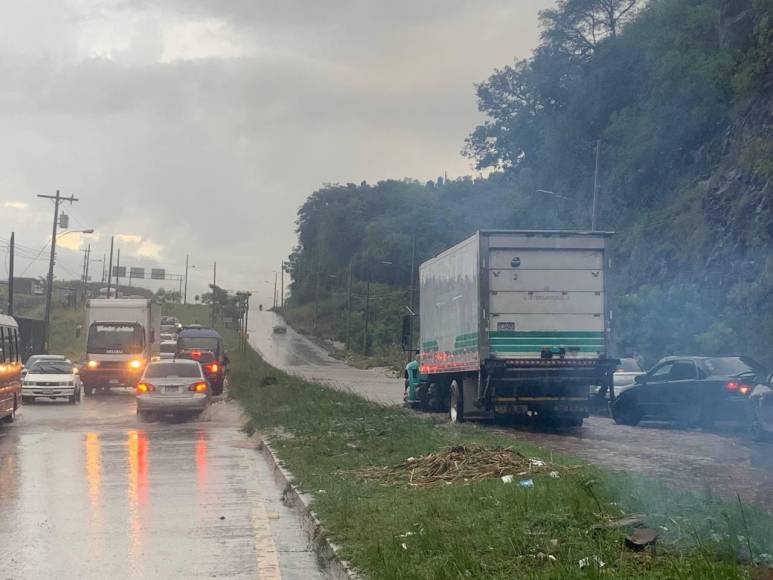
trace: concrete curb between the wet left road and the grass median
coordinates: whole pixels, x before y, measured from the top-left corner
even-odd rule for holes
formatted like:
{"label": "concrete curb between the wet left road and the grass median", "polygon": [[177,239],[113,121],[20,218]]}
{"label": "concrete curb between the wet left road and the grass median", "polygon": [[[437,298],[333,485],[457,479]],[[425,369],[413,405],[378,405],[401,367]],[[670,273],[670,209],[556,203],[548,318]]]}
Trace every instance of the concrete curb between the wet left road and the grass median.
{"label": "concrete curb between the wet left road and the grass median", "polygon": [[265,439],[259,441],[258,451],[268,461],[274,481],[282,487],[282,501],[300,516],[303,530],[328,575],[334,580],[363,580],[351,564],[341,558],[340,547],[328,539],[327,530],[310,507],[311,495],[295,487],[292,474],[282,467],[276,453]]}

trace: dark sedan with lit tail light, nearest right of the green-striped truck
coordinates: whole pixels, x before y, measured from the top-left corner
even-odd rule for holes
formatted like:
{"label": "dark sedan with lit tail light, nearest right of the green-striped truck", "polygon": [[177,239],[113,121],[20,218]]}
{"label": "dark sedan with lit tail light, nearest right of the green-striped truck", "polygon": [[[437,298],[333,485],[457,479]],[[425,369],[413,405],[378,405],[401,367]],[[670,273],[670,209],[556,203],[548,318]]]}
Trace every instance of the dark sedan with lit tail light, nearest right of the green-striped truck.
{"label": "dark sedan with lit tail light, nearest right of the green-striped truck", "polygon": [[610,404],[615,423],[671,420],[709,428],[749,420],[749,395],[765,369],[748,357],[667,357]]}

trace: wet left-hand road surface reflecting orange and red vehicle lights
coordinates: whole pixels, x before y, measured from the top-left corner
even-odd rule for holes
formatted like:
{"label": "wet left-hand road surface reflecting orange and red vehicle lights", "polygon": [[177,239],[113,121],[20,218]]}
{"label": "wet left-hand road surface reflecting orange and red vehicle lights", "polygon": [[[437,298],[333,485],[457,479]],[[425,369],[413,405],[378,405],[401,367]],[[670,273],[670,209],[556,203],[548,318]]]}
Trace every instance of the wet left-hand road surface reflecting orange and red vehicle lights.
{"label": "wet left-hand road surface reflecting orange and red vehicle lights", "polygon": [[324,577],[235,405],[138,423],[133,395],[0,425],[0,578]]}

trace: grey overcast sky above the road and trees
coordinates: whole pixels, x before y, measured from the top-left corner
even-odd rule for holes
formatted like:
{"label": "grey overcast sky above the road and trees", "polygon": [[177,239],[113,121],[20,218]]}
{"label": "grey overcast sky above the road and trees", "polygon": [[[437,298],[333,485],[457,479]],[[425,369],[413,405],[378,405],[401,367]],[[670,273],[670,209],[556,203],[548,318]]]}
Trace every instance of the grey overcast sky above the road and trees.
{"label": "grey overcast sky above the road and trees", "polygon": [[[212,262],[271,296],[298,207],[330,182],[471,172],[473,84],[529,54],[549,0],[25,0],[0,19],[0,251],[42,275],[52,204],[93,256]],[[61,239],[57,278],[87,241]],[[79,246],[80,244],[80,246]],[[7,259],[7,258],[6,258]],[[7,268],[6,260],[3,266]],[[7,269],[5,270],[7,272]],[[92,272],[101,271],[100,264]]]}

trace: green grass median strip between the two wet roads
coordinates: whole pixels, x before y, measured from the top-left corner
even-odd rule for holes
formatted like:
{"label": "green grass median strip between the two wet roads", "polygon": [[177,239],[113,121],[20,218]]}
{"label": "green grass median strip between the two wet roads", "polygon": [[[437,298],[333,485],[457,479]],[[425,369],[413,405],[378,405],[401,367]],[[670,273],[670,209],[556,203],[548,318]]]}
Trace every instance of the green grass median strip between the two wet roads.
{"label": "green grass median strip between the two wet roads", "polygon": [[[475,425],[380,406],[288,376],[250,348],[242,352],[238,340],[226,332],[230,392],[249,417],[246,428],[271,442],[313,495],[343,556],[368,578],[769,577],[761,574],[773,560],[773,518],[740,499],[672,489]],[[458,446],[513,448],[556,472],[438,485],[368,476]],[[654,547],[631,551],[630,530],[605,527],[632,513],[658,532]]]}

